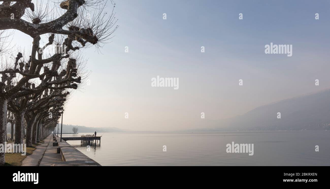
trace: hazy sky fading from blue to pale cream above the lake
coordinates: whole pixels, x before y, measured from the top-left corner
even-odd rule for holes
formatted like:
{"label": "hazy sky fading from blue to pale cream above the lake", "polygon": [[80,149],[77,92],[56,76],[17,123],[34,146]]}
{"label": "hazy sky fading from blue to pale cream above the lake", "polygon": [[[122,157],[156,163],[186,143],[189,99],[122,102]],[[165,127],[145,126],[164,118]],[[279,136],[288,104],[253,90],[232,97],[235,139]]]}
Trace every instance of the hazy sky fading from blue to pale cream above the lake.
{"label": "hazy sky fading from blue to pale cream above the lake", "polygon": [[[329,1],[117,0],[119,28],[103,54],[93,47],[85,52],[90,86],[74,93],[63,123],[135,131],[208,128],[203,121],[328,88],[329,6]],[[17,46],[26,45],[24,34],[15,35]],[[292,45],[292,57],[265,54],[271,42]],[[151,87],[157,75],[179,78],[179,89]]]}

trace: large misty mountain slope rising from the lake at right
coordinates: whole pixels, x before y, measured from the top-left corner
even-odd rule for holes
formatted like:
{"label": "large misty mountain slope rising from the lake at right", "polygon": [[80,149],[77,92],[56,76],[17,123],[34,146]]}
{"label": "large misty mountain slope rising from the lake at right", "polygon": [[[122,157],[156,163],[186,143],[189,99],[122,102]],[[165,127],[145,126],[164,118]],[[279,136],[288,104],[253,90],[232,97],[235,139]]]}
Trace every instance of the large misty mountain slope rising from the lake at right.
{"label": "large misty mountain slope rising from the lake at right", "polygon": [[330,130],[330,89],[261,106],[220,125],[221,130]]}

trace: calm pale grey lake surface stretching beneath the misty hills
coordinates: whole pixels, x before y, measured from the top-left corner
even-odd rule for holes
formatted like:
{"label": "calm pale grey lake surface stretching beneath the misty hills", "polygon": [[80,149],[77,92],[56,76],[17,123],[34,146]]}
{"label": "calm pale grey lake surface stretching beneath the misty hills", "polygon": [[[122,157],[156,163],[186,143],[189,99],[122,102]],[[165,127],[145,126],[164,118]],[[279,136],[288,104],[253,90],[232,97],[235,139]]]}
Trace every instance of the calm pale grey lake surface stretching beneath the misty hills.
{"label": "calm pale grey lake surface stretching beneath the misty hills", "polygon": [[[63,137],[82,134],[87,133]],[[253,143],[254,155],[226,153],[226,144],[232,141]],[[104,133],[101,144],[91,145],[90,151],[80,141],[68,143],[102,166],[330,165],[329,131]]]}

